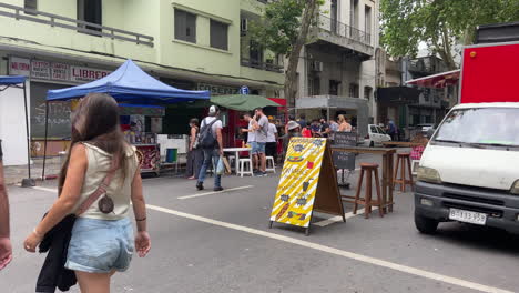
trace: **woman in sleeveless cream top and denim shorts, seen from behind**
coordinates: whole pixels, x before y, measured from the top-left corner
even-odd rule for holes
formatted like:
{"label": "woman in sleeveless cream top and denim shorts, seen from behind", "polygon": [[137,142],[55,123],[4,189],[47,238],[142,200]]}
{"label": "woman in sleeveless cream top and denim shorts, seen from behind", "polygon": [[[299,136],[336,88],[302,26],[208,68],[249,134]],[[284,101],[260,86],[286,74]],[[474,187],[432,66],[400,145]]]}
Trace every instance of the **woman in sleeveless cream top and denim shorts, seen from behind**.
{"label": "woman in sleeveless cream top and denim shorts, seen from behind", "polygon": [[[51,245],[58,245],[47,256],[37,292],[54,292],[48,291],[57,285],[50,280],[75,283],[64,280],[73,274],[61,274],[64,255],[64,267],[74,271],[81,292],[110,292],[112,275],[129,269],[132,252],[136,250],[143,257],[151,247],[138,155],[124,140],[119,105],[112,97],[90,93],[81,100],[72,119],[70,148],[58,182],[59,198],[23,246],[35,252],[43,236],[44,242],[50,238]],[[138,228],[135,236],[129,219],[131,206]],[[78,218],[72,222],[67,249],[67,233],[54,229],[71,222],[70,214]],[[54,238],[60,239],[60,244],[52,241]]]}

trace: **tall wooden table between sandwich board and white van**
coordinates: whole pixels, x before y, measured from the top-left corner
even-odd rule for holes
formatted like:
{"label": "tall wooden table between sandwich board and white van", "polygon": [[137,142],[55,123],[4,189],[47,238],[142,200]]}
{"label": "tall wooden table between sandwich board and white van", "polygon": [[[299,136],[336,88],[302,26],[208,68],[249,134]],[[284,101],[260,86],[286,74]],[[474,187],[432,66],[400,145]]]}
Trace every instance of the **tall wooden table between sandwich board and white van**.
{"label": "tall wooden table between sandwich board and white van", "polygon": [[[385,148],[362,148],[362,146],[332,146],[333,152],[350,152],[350,153],[372,153],[372,154],[381,154],[383,155],[383,206],[384,212],[393,212],[393,169],[394,169],[394,155],[396,149],[385,149]],[[344,195],[343,195],[344,196]],[[387,209],[388,208],[388,209]]]}

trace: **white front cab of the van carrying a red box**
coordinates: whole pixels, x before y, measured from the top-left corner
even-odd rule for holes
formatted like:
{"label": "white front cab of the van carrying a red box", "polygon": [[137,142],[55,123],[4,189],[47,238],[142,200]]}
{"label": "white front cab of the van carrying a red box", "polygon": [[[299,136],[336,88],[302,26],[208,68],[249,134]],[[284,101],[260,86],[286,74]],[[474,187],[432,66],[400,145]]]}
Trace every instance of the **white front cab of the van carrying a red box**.
{"label": "white front cab of the van carrying a red box", "polygon": [[455,107],[418,168],[415,224],[458,221],[519,233],[519,103]]}

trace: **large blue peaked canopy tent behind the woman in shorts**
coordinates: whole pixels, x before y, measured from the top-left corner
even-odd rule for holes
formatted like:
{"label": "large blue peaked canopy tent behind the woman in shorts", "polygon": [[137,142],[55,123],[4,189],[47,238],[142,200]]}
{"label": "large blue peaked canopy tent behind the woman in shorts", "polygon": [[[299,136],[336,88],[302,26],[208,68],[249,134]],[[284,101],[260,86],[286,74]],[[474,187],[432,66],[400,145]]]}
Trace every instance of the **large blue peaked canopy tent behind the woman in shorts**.
{"label": "large blue peaked canopy tent behind the woman in shorts", "polygon": [[[49,91],[47,94],[47,108],[49,107],[49,102],[68,101],[84,97],[91,92],[108,93],[120,103],[132,104],[172,104],[194,100],[208,100],[211,98],[208,91],[189,91],[167,85],[144,72],[129,59],[114,72],[102,79],[72,88]],[[49,117],[45,118],[43,179],[45,174],[48,119]]]}

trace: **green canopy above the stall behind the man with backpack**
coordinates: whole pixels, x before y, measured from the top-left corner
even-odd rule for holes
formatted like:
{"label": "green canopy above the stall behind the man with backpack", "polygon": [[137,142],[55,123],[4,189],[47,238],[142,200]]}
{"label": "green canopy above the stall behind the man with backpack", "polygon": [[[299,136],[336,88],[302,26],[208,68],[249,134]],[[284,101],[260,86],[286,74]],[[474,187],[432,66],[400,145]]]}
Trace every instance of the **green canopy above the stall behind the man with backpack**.
{"label": "green canopy above the stall behind the man with backpack", "polygon": [[263,95],[228,94],[211,97],[211,102],[236,111],[252,111],[256,108],[281,107]]}

